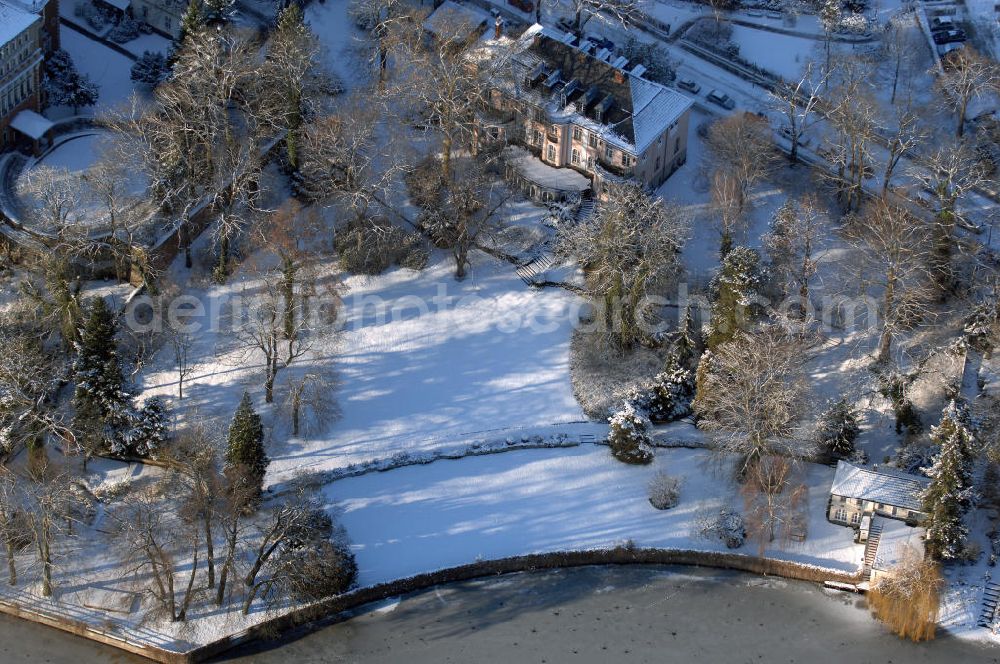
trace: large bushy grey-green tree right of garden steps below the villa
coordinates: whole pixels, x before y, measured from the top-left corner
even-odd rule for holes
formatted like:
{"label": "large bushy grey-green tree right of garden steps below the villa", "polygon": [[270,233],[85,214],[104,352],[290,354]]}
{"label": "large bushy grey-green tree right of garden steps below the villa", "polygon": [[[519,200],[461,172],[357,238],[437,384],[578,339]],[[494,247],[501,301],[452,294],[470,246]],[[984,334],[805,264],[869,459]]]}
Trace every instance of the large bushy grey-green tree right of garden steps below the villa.
{"label": "large bushy grey-green tree right of garden steps below the villa", "polygon": [[609,183],[602,193],[590,219],[560,229],[559,251],[585,269],[606,337],[624,350],[641,337],[645,298],[681,269],[688,219],[634,182]]}

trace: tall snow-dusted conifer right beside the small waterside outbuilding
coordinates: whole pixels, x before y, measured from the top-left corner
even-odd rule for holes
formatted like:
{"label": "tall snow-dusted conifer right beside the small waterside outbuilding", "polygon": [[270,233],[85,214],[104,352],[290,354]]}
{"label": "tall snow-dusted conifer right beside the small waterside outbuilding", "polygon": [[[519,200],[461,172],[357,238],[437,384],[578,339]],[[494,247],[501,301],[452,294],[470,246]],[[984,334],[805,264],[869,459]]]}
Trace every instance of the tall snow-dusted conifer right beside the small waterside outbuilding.
{"label": "tall snow-dusted conifer right beside the small waterside outbuilding", "polygon": [[926,548],[935,560],[948,560],[960,557],[965,549],[968,528],[963,517],[972,502],[974,438],[966,411],[952,401],[941,423],[932,427],[931,439],[941,451],[927,471],[931,484],[921,496],[928,515]]}

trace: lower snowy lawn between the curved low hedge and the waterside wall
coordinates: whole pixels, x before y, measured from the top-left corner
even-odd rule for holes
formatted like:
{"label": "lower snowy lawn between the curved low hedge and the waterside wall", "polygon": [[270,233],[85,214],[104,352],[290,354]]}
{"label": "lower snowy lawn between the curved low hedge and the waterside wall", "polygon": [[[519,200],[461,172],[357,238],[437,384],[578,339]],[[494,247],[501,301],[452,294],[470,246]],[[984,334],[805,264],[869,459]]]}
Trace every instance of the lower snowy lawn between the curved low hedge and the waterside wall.
{"label": "lower snowy lawn between the curved low hedge and the waterside wall", "polygon": [[[646,485],[663,470],[683,478],[680,504],[658,511]],[[850,528],[825,518],[833,469],[811,465],[804,542],[766,554],[853,572],[863,547]],[[548,551],[638,547],[725,551],[691,536],[699,512],[730,500],[732,488],[704,450],[657,450],[646,467],[616,461],[607,447],[507,452],[440,461],[335,482],[325,495],[347,529],[359,582]],[[739,508],[739,499],[734,505]],[[747,542],[741,553],[755,555]]]}

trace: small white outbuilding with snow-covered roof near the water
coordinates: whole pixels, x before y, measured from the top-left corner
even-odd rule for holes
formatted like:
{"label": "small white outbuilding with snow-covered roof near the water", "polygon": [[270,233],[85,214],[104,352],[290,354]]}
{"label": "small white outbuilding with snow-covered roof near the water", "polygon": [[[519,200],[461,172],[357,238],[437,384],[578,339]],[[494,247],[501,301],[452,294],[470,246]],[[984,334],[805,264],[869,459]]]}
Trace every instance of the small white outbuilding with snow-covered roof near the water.
{"label": "small white outbuilding with snow-covered roof near the water", "polygon": [[837,473],[830,486],[827,519],[853,528],[873,516],[898,519],[917,525],[927,514],[920,494],[930,480],[898,470],[861,468],[846,461],[837,462]]}

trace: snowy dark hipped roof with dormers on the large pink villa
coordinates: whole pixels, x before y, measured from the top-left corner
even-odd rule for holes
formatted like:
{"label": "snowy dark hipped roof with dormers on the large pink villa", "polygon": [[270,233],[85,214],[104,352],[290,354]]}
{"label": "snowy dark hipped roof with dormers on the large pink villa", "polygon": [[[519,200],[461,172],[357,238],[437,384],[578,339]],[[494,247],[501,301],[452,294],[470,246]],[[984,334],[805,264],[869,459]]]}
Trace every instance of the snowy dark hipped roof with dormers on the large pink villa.
{"label": "snowy dark hipped roof with dormers on the large pink villa", "polygon": [[529,27],[515,49],[515,93],[546,107],[554,121],[579,124],[637,154],[694,104],[642,78],[642,65],[580,39],[537,23]]}

